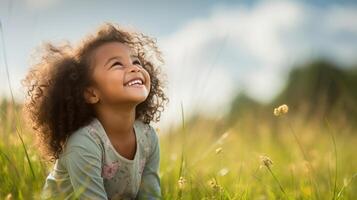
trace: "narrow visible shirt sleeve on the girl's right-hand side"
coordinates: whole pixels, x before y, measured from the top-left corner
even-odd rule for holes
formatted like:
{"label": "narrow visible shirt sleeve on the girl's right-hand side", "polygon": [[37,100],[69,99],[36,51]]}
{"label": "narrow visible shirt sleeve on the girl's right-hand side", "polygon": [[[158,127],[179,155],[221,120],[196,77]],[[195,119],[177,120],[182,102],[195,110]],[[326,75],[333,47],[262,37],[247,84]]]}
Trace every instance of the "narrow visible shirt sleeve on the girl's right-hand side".
{"label": "narrow visible shirt sleeve on the girl's right-hand side", "polygon": [[151,129],[151,153],[145,164],[141,177],[141,185],[136,199],[161,199],[159,178],[160,146],[158,136],[154,128]]}

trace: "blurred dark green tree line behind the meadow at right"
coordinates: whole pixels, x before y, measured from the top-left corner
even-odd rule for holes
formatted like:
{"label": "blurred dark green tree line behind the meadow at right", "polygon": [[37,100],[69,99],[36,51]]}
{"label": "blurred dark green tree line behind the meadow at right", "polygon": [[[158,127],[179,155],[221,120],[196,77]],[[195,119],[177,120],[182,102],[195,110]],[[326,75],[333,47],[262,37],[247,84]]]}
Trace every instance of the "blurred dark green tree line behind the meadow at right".
{"label": "blurred dark green tree line behind the meadow at right", "polygon": [[327,59],[295,66],[285,88],[267,104],[237,94],[227,120],[232,124],[247,116],[266,119],[281,104],[289,106],[289,115],[301,115],[306,122],[327,119],[357,127],[357,66],[338,66]]}

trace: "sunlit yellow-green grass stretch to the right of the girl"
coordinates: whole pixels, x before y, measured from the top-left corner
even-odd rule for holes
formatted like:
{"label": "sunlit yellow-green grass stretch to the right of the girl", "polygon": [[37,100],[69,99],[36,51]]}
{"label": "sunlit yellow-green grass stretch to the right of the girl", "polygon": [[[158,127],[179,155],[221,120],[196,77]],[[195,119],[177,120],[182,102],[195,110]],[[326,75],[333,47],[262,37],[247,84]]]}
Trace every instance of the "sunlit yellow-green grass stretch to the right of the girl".
{"label": "sunlit yellow-green grass stretch to the right of the girl", "polygon": [[[188,167],[185,170],[188,175],[185,178],[189,186],[185,188],[182,198],[211,198],[211,195],[222,195],[216,198],[223,199],[357,197],[353,191],[356,182],[351,178],[357,169],[354,159],[357,137],[353,130],[340,131],[334,142],[331,142],[328,131],[333,127],[322,126],[323,124],[289,125],[284,123],[286,119],[277,120],[282,122],[279,123],[279,128],[272,130],[268,122],[259,121],[259,127],[256,127],[257,122],[247,119],[243,125],[231,127],[228,137],[218,143],[219,135],[223,133],[214,132],[215,123],[201,122],[187,127],[189,130],[186,130],[188,134],[185,145],[191,148],[186,149],[189,154],[186,155]],[[290,133],[289,126],[294,126],[296,138]],[[169,136],[164,135],[161,142],[164,194],[168,199],[176,199],[175,194],[179,192],[179,188],[174,177],[177,177],[175,174],[179,169],[175,166],[180,164],[176,157],[183,141],[179,133],[170,133]],[[215,148],[221,148],[221,153],[216,154]],[[209,153],[206,154],[204,152],[207,149]],[[259,167],[261,155],[268,155],[274,164],[271,167]],[[199,162],[195,162],[197,159]],[[222,169],[228,169],[229,172],[221,175]],[[209,184],[211,177],[217,180],[224,193],[214,192]],[[338,197],[337,194],[344,190],[346,180],[346,187],[349,189],[344,192],[343,197]]]}

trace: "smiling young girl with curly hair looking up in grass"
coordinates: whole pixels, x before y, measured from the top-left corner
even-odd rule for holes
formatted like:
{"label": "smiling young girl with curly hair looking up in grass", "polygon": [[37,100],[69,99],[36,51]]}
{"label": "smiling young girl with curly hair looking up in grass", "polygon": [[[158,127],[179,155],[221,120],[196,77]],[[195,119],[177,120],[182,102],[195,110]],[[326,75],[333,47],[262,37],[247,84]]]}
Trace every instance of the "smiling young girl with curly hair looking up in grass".
{"label": "smiling young girl with curly hair looking up in grass", "polygon": [[41,199],[157,199],[168,98],[153,39],[106,23],[79,46],[46,44],[23,80],[25,113],[54,167]]}

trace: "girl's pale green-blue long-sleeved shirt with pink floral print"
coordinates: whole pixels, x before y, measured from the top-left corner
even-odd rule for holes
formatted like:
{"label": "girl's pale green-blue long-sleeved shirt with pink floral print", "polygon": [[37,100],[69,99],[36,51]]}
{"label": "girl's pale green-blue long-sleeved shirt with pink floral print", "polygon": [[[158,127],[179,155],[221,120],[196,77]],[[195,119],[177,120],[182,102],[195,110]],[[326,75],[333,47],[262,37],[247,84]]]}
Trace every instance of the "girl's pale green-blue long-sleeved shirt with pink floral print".
{"label": "girl's pale green-blue long-sleeved shirt with pink floral print", "polygon": [[75,131],[46,178],[41,199],[160,199],[155,129],[135,120],[133,160],[113,147],[97,118]]}

